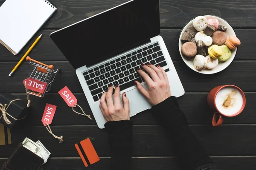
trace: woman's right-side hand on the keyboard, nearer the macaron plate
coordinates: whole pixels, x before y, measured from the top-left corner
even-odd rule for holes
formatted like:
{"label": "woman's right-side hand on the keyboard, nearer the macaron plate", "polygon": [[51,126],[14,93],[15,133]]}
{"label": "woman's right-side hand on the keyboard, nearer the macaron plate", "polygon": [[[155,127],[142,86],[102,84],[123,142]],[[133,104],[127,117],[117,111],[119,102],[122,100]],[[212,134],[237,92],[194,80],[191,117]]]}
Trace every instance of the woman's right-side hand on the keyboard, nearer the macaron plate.
{"label": "woman's right-side hand on the keyboard, nearer the macaron plate", "polygon": [[148,63],[148,65],[142,64],[142,68],[152,77],[151,79],[144,71],[138,70],[138,73],[148,84],[148,90],[146,90],[140,82],[135,81],[135,84],[151,105],[157,105],[172,96],[168,77],[163,68],[159,65],[156,67],[150,63]]}

